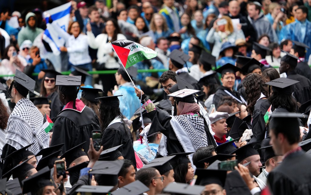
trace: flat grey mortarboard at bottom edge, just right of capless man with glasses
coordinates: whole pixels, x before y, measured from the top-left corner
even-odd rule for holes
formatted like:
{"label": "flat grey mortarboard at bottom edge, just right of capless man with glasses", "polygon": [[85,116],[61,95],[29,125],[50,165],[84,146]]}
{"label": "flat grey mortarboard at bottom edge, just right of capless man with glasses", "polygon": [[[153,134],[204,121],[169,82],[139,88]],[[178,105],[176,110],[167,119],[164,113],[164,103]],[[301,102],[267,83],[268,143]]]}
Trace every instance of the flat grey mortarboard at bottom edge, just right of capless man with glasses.
{"label": "flat grey mortarboard at bottom edge, just right of capless man with glasses", "polygon": [[163,192],[170,194],[187,194],[187,195],[197,195],[201,194],[204,190],[204,186],[200,185],[189,185],[183,183],[170,183],[164,189]]}

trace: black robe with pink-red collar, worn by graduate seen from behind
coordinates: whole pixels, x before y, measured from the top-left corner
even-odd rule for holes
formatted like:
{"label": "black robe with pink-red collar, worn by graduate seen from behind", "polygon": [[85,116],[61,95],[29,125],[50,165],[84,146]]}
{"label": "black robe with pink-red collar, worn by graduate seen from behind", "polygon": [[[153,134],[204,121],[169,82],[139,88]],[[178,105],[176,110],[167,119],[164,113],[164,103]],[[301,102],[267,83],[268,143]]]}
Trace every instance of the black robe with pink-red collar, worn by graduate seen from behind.
{"label": "black robe with pink-red collar, worn by graduate seen from behind", "polygon": [[73,101],[54,119],[53,135],[50,146],[64,144],[62,152],[85,142],[82,148],[87,153],[92,131],[100,131],[100,123],[94,110],[87,107],[81,100],[76,100],[77,109],[73,109]]}

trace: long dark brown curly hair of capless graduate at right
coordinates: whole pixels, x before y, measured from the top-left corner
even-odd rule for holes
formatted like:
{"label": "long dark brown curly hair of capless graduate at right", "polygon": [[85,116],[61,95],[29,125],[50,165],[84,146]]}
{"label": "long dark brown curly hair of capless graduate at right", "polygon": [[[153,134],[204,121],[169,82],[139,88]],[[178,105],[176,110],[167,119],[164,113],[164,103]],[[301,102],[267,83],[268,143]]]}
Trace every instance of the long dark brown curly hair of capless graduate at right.
{"label": "long dark brown curly hair of capless graduate at right", "polygon": [[261,93],[268,97],[268,86],[265,84],[267,79],[257,73],[248,74],[243,81],[245,87],[247,107],[246,111],[253,114],[254,106]]}

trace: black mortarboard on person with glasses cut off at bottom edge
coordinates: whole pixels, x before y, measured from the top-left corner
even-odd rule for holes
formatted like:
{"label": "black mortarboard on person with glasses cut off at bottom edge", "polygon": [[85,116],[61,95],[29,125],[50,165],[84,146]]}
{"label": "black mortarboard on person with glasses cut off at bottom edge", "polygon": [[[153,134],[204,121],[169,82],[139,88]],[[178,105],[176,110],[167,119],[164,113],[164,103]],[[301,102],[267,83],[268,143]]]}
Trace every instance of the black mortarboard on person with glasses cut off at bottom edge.
{"label": "black mortarboard on person with glasses cut off at bottom edge", "polygon": [[195,183],[197,185],[218,184],[223,188],[225,186],[227,171],[199,168],[196,170],[196,175],[197,180]]}

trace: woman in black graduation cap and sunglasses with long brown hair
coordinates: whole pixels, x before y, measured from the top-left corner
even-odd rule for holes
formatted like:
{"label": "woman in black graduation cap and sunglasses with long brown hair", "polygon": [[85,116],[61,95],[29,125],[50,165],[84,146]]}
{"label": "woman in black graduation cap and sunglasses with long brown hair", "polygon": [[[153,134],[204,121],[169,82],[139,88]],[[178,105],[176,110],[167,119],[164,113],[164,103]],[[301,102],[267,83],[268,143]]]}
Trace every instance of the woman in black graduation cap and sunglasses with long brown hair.
{"label": "woman in black graduation cap and sunglasses with long brown hair", "polygon": [[58,98],[57,87],[55,86],[56,75],[61,75],[61,73],[53,69],[41,69],[41,71],[45,72],[45,75],[41,82],[40,94],[43,97],[50,98],[50,118],[53,118],[63,109],[63,104]]}

